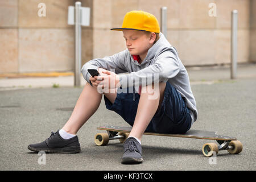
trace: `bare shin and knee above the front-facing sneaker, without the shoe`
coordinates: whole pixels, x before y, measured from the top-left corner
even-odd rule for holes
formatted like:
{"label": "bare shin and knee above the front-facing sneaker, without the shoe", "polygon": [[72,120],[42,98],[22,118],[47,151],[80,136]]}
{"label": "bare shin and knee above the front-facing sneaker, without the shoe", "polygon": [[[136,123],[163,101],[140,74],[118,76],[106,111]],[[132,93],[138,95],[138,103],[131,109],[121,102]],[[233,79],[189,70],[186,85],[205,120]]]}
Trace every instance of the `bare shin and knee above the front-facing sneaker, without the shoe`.
{"label": "bare shin and knee above the front-facing sneaker, without the shoe", "polygon": [[[137,114],[129,137],[136,137],[141,140],[151,119],[154,117],[156,111],[160,109],[163,101],[164,89],[166,88],[166,82],[159,82],[158,84],[158,86],[154,86],[154,84],[152,84],[142,87]],[[152,92],[150,88],[152,88],[154,92]],[[149,99],[153,95],[156,97],[154,99]]]}

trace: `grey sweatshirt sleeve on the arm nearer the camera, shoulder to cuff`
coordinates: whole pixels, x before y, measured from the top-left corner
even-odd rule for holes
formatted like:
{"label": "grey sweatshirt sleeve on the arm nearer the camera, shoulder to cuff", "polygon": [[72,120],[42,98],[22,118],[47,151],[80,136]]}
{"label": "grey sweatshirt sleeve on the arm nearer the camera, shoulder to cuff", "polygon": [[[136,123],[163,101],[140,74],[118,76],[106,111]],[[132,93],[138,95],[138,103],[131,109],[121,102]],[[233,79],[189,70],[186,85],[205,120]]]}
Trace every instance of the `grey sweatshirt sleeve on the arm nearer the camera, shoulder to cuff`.
{"label": "grey sweatshirt sleeve on the arm nearer the camera, shoulder to cuff", "polygon": [[171,51],[166,51],[158,56],[154,64],[140,71],[121,75],[119,82],[122,88],[139,85],[146,86],[153,82],[167,82],[170,78],[175,77],[179,71],[177,56]]}

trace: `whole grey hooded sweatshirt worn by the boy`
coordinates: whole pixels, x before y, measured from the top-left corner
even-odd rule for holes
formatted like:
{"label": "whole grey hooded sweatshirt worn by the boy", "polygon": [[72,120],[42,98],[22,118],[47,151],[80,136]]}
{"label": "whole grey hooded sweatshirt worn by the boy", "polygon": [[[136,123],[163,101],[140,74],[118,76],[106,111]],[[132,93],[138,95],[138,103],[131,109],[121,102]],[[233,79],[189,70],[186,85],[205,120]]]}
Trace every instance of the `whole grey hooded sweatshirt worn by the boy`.
{"label": "whole grey hooded sweatshirt worn by the boy", "polygon": [[82,66],[82,75],[92,85],[89,80],[90,73],[87,69],[104,68],[116,74],[128,72],[129,74],[119,75],[121,88],[133,87],[133,90],[136,90],[137,93],[139,85],[145,86],[152,84],[152,82],[168,81],[181,94],[181,97],[185,98],[193,124],[198,113],[188,72],[181,63],[175,47],[171,46],[161,32],[159,36],[159,40],[148,49],[147,56],[141,64],[133,59],[128,49],[125,49],[113,56],[88,61]]}

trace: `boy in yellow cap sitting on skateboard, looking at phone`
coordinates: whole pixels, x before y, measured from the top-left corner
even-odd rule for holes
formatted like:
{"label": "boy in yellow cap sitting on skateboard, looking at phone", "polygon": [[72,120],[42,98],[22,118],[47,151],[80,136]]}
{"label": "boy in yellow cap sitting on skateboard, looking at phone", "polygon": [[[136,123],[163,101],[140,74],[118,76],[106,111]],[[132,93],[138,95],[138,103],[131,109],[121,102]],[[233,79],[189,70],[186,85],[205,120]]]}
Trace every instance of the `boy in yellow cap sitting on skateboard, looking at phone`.
{"label": "boy in yellow cap sitting on skateboard, looking at phone", "polygon": [[[93,59],[82,66],[84,86],[71,117],[61,130],[42,143],[30,144],[32,151],[80,152],[77,131],[100,106],[133,126],[125,141],[122,163],[141,163],[144,131],[184,134],[197,119],[195,97],[188,73],[178,53],[160,33],[158,20],[144,11],[130,11],[122,28],[127,49],[113,56]],[[92,77],[88,69],[97,69]],[[129,74],[117,75],[118,73]]]}

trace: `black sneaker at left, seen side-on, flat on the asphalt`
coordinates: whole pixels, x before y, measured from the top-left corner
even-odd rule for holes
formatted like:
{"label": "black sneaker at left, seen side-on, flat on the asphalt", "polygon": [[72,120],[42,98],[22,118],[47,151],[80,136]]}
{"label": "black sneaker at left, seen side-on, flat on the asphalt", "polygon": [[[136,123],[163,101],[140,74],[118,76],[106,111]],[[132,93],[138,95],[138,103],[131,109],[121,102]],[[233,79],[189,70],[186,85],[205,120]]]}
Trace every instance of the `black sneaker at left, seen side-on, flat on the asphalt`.
{"label": "black sneaker at left, seen side-on, flat on the asphalt", "polygon": [[79,139],[77,136],[70,139],[64,139],[60,136],[59,130],[44,140],[44,142],[30,144],[27,147],[29,150],[34,152],[44,151],[47,153],[78,153],[81,151]]}

